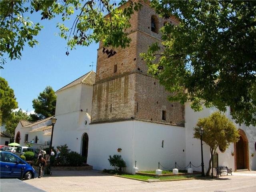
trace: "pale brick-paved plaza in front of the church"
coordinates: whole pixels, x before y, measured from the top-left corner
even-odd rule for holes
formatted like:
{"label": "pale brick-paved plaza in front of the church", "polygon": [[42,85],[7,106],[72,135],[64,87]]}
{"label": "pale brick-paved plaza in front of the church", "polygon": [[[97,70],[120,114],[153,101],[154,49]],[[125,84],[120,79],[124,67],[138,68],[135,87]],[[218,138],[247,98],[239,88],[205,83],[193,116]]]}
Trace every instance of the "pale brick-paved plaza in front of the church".
{"label": "pale brick-paved plaza in front of the church", "polygon": [[256,172],[235,173],[219,179],[146,183],[97,171],[53,171],[53,176],[24,181],[46,192],[254,192]]}

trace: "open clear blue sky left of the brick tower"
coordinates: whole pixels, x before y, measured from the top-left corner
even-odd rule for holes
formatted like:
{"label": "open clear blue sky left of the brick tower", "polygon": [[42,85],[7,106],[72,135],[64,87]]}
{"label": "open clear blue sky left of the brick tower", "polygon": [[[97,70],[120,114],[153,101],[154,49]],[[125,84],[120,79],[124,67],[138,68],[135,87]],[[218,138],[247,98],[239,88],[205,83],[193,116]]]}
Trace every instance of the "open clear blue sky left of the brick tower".
{"label": "open clear blue sky left of the brick tower", "polygon": [[[33,111],[32,100],[48,85],[56,91],[76,78],[92,70],[96,71],[98,44],[77,47],[66,56],[66,41],[58,35],[56,23],[60,18],[40,21],[40,14],[30,17],[34,23],[40,22],[44,28],[36,36],[39,44],[34,48],[24,47],[21,60],[10,61],[1,69],[1,77],[14,90],[19,108]],[[72,24],[72,20],[69,22]],[[69,25],[69,26],[70,26]]]}

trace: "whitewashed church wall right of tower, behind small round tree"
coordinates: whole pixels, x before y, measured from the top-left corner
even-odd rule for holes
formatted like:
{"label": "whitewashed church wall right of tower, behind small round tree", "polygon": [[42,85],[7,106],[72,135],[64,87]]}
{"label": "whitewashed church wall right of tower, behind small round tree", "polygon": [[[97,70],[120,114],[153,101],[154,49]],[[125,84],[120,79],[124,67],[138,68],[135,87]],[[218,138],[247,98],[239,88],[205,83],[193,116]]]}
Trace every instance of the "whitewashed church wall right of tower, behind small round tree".
{"label": "whitewashed church wall right of tower, behind small round tree", "polygon": [[[217,111],[216,108],[205,108],[200,112],[194,112],[190,108],[190,103],[185,104],[185,127],[186,127],[186,164],[190,161],[195,166],[198,166],[201,163],[201,150],[200,150],[200,140],[193,138],[194,130],[193,128],[196,126],[198,122],[198,118],[208,117],[212,112]],[[230,116],[230,110],[227,108],[226,116],[232,120]],[[233,120],[232,120],[233,121]],[[244,130],[246,136],[249,141],[249,167],[250,170],[256,170],[256,157],[252,157],[250,154],[255,154],[254,143],[256,141],[256,128],[253,126],[247,127],[245,125],[239,126],[235,124],[239,129]],[[204,166],[205,170],[208,169],[208,162],[210,160],[210,147],[203,142],[203,153],[204,153]],[[234,156],[231,155],[231,152],[234,152],[234,143],[231,143],[229,148],[226,149],[225,152],[220,152],[219,148],[217,148],[219,154],[219,165],[220,166],[228,166],[228,168],[232,168],[234,170]],[[200,171],[201,168],[193,168],[194,170]]]}

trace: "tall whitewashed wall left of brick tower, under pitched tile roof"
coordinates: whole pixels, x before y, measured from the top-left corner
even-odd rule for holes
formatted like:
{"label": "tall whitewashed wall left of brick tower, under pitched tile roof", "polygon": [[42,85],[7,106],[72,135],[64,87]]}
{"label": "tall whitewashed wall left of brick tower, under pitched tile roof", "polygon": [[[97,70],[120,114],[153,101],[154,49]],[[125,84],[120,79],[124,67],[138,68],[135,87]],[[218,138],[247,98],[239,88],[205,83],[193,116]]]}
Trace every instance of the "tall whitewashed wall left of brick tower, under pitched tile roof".
{"label": "tall whitewashed wall left of brick tower, under pitched tile roof", "polygon": [[84,133],[89,135],[88,114],[90,115],[92,110],[92,91],[92,86],[79,84],[57,92],[55,116],[57,121],[54,126],[53,146],[67,144],[70,150],[82,154],[82,136]]}

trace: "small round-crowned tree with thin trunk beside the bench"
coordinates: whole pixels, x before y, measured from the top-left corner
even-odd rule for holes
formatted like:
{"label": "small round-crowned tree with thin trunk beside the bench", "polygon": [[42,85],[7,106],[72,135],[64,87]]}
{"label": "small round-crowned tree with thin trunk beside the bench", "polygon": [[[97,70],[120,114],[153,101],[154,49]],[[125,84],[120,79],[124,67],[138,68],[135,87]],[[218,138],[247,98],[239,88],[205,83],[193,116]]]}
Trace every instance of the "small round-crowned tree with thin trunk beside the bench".
{"label": "small round-crowned tree with thin trunk beside the bench", "polygon": [[[216,152],[219,146],[222,149],[228,148],[231,142],[239,140],[239,131],[236,126],[224,114],[214,112],[209,117],[200,118],[194,128],[194,138],[200,139],[200,127],[204,129],[202,140],[210,146],[211,155]],[[209,160],[209,167],[206,175],[209,175],[211,169],[212,156]]]}

